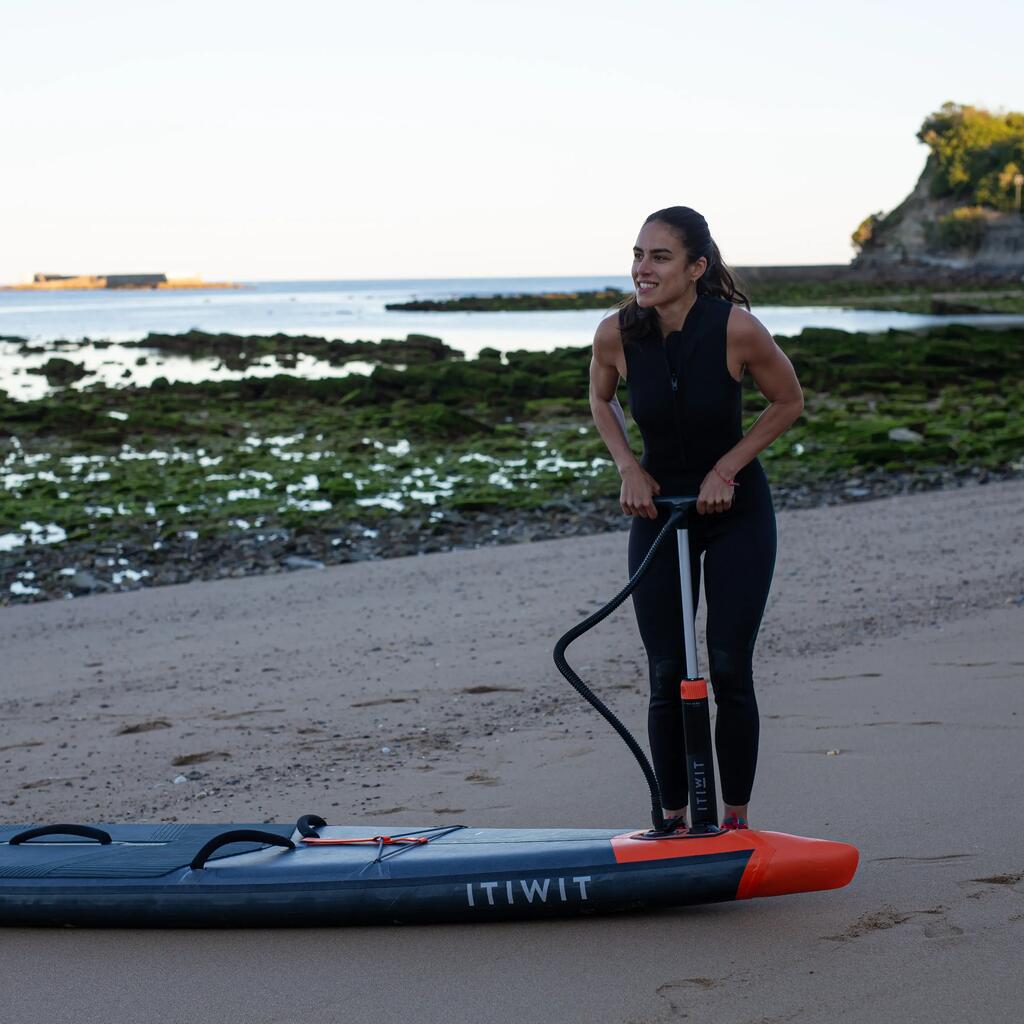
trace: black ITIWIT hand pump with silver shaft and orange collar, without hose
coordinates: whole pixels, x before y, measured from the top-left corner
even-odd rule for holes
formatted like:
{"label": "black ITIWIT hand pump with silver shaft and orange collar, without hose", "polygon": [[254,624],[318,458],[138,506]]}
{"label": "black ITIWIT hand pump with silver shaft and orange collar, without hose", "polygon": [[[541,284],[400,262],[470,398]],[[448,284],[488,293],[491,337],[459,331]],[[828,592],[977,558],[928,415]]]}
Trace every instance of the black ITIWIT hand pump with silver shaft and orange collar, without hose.
{"label": "black ITIWIT hand pump with silver shaft and orange collar, without hose", "polygon": [[679,684],[683,703],[683,735],[686,739],[686,782],[690,795],[689,836],[716,836],[718,798],[715,795],[715,760],[711,742],[711,710],[708,684],[697,673],[697,640],[694,625],[693,577],[690,571],[690,541],[687,524],[697,500],[690,495],[654,498],[654,507],[681,512],[676,526],[679,548],[679,591],[683,600],[683,646],[686,651],[686,676]]}

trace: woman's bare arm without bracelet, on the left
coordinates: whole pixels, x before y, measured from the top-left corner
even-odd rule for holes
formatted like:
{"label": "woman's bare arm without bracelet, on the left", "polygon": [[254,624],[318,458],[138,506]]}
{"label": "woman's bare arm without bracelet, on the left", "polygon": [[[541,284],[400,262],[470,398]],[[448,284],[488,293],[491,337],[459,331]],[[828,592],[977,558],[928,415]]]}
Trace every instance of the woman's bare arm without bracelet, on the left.
{"label": "woman's bare arm without bracelet, on the left", "polygon": [[625,376],[625,364],[616,317],[608,316],[600,323],[594,335],[594,353],[590,360],[590,411],[597,432],[623,478],[618,495],[623,512],[656,519],[657,509],[651,499],[660,487],[630,447],[626,416],[615,395],[618,380]]}

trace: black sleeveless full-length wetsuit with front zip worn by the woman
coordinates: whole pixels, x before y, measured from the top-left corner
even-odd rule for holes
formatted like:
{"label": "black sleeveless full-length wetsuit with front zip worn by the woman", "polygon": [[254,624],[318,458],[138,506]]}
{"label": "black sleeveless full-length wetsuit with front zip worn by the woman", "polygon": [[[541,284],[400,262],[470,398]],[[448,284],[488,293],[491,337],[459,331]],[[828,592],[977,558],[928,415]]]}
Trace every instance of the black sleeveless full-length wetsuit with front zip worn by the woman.
{"label": "black sleeveless full-length wetsuit with front zip worn by the woman", "polygon": [[[732,303],[699,296],[681,331],[664,342],[624,345],[630,411],[643,437],[641,465],[663,495],[696,495],[715,463],[742,437],[741,386],[726,362]],[[752,660],[775,565],[775,515],[761,464],[736,476],[727,512],[691,517],[693,605],[703,555],[708,653],[717,717],[722,799],[750,800],[758,756],[758,706]],[[637,516],[630,529],[630,573],[646,555],[667,513]],[[650,668],[648,730],[662,804],[687,802],[679,683],[686,672],[676,545],[667,541],[634,591],[640,635]]]}

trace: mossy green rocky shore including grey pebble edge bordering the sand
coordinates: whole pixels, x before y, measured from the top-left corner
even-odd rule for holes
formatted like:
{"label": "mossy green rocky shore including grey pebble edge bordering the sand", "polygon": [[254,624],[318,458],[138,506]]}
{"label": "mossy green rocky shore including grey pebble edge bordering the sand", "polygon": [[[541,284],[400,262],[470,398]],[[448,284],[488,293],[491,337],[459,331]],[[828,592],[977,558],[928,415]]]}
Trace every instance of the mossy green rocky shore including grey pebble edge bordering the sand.
{"label": "mossy green rocky shore including grey pebble edge bordering the sand", "polygon": [[[805,410],[762,456],[778,506],[1024,471],[1020,340],[959,325],[785,339]],[[0,393],[0,603],[625,527],[586,346],[402,344],[404,369],[366,376]],[[764,404],[744,388],[744,424]]]}

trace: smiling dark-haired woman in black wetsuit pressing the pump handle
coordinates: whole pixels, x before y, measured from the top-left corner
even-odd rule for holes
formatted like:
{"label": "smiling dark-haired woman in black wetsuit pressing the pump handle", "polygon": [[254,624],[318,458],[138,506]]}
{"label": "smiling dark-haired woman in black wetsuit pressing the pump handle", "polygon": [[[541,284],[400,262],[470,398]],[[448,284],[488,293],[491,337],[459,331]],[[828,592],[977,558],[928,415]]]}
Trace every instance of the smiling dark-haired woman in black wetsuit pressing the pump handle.
{"label": "smiling dark-haired woman in black wetsuit pressing the pump handle", "polygon": [[[597,329],[591,410],[623,478],[623,512],[634,517],[631,573],[665,524],[653,496],[698,496],[689,524],[693,604],[702,554],[722,823],[745,828],[759,729],[752,658],[775,564],[775,515],[756,457],[800,416],[803,393],[696,211],[675,206],[647,218],[633,247],[633,284],[635,295]],[[745,435],[744,373],[769,402]],[[620,378],[643,438],[640,461],[615,397]],[[686,659],[675,545],[662,545],[633,606],[650,668],[648,730],[662,803],[685,827],[679,683]]]}

